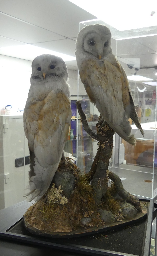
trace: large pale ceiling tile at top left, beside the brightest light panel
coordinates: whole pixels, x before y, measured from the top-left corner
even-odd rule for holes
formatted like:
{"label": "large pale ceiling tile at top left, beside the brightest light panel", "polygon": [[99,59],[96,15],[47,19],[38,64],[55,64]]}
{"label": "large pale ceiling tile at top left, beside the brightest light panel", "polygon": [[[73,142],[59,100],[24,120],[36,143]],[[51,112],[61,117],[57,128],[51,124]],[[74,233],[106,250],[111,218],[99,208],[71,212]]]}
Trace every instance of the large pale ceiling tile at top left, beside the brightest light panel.
{"label": "large pale ceiling tile at top left, beside the brightest light panel", "polygon": [[97,18],[68,0],[1,0],[0,10],[68,38],[77,37],[79,21]]}

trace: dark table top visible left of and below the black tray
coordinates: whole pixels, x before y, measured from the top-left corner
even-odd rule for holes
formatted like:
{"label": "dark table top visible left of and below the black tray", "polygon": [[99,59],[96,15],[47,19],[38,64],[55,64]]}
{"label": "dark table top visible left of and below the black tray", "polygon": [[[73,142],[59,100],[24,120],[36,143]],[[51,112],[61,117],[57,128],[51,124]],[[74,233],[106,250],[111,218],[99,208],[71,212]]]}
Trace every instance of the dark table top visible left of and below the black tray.
{"label": "dark table top visible left of and below the black tray", "polygon": [[[23,207],[21,208],[21,205]],[[21,202],[19,204],[10,206],[3,210],[0,210],[0,229],[3,230],[6,225],[10,226],[13,219],[14,222],[24,214],[28,206],[31,203]],[[51,256],[51,255],[60,255],[60,256],[76,256],[83,255],[78,253],[66,252],[62,250],[56,250],[44,246],[37,246],[26,244],[23,242],[12,241],[8,239],[0,238],[0,256]]]}

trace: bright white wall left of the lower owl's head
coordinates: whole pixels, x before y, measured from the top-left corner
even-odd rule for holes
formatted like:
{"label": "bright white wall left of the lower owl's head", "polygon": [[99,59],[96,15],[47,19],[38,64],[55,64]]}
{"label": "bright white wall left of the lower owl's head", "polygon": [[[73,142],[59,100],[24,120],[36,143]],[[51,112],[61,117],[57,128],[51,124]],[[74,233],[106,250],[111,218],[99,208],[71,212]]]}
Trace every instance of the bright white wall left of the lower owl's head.
{"label": "bright white wall left of the lower owl's head", "polygon": [[30,88],[31,61],[0,55],[0,109],[25,106]]}

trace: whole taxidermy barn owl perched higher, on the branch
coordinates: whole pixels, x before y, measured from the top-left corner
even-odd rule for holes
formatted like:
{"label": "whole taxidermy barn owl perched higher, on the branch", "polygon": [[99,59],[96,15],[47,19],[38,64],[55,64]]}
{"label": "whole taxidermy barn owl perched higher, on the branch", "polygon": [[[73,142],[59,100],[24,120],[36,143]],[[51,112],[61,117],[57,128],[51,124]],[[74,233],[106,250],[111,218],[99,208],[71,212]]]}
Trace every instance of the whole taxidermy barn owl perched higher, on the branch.
{"label": "whole taxidermy barn owl perched higher, on the branch", "polygon": [[129,82],[111,49],[111,32],[104,25],[81,29],[76,41],[76,60],[85,90],[105,121],[124,140],[135,145],[128,119],[143,130],[138,120]]}

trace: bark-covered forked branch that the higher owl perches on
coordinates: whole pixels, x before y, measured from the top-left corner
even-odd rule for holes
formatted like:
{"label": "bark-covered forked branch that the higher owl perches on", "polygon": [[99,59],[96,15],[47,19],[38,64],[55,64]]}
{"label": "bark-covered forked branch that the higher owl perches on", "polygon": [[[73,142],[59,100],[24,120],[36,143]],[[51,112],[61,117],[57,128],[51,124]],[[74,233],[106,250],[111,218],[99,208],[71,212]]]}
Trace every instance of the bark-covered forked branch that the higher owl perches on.
{"label": "bark-covered forked branch that the higher owl perches on", "polygon": [[140,205],[138,198],[127,192],[122,185],[121,179],[115,173],[108,170],[113,148],[113,129],[100,115],[99,122],[96,124],[97,134],[95,134],[88,126],[80,101],[77,101],[76,105],[78,113],[81,116],[84,130],[93,139],[98,141],[99,146],[91,169],[87,174],[85,174],[89,181],[91,181],[91,185],[94,187],[95,203],[100,204],[100,201],[105,196],[108,187],[108,178],[110,178],[114,182],[117,193],[127,202],[138,207]]}

